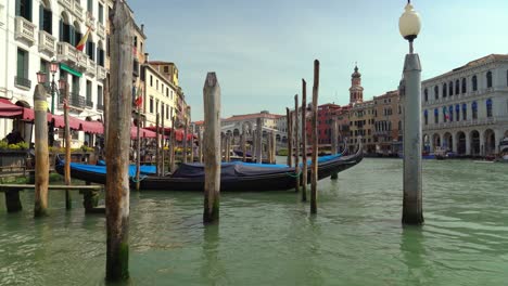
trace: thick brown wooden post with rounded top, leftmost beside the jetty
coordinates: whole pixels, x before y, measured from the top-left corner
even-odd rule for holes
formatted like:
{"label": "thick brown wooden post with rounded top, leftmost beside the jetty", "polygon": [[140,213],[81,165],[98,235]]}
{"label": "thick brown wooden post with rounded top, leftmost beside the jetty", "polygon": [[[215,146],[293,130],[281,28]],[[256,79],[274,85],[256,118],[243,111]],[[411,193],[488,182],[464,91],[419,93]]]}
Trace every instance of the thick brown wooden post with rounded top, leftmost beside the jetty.
{"label": "thick brown wooden post with rounded top, leftmost beside the jetty", "polygon": [[46,89],[37,84],[34,90],[35,110],[35,206],[34,217],[48,214],[49,150],[48,150],[48,102]]}

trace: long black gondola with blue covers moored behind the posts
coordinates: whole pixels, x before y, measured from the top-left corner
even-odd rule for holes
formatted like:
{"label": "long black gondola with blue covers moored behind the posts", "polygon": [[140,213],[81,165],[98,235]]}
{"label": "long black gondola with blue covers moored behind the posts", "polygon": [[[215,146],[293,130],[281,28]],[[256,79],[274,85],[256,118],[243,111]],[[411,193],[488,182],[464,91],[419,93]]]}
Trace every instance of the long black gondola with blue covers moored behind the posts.
{"label": "long black gondola with blue covers moored behind the posts", "polygon": [[[330,155],[318,159],[318,180],[341,172],[363,159],[361,147],[350,156]],[[102,168],[102,169],[100,169]],[[56,171],[63,174],[63,164],[56,164]],[[309,168],[310,169],[310,168]],[[294,168],[282,165],[258,165],[245,162],[227,162],[221,165],[221,192],[259,192],[284,191],[294,188],[297,176]],[[308,171],[310,176],[310,171]],[[71,164],[71,177],[92,183],[105,183],[105,167],[84,164]],[[134,174],[129,173],[130,186],[135,186]],[[309,177],[308,177],[309,178]],[[161,191],[203,191],[204,166],[202,164],[182,164],[172,174],[140,177],[141,190]]]}

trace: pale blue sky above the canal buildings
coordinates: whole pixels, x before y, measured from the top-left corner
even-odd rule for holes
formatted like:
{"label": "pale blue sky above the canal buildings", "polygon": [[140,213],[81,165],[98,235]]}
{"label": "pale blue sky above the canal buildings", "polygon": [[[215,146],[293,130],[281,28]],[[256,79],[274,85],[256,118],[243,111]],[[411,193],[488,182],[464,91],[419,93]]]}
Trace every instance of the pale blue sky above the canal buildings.
{"label": "pale blue sky above the canal buildings", "polygon": [[[319,104],[348,103],[358,62],[364,100],[396,89],[407,42],[398,34],[403,0],[131,0],[144,24],[150,60],[179,68],[180,86],[203,118],[203,84],[216,72],[221,117],[269,110],[284,114],[312,94],[320,61]],[[422,79],[491,53],[508,53],[507,0],[414,0],[422,18],[415,42]]]}

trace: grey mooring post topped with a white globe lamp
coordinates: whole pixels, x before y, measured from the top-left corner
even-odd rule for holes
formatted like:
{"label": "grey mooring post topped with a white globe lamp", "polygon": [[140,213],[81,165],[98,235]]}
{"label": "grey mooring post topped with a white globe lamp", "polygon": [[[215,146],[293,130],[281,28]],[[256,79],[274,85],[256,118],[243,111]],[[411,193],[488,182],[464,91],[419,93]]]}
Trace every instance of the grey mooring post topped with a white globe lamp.
{"label": "grey mooring post topped with a white globe lamp", "polygon": [[409,53],[404,62],[404,79],[401,83],[401,99],[404,106],[404,224],[423,223],[421,190],[421,66],[418,54],[414,53],[412,41],[420,32],[420,16],[407,1],[405,12],[398,21],[398,29],[409,41]]}

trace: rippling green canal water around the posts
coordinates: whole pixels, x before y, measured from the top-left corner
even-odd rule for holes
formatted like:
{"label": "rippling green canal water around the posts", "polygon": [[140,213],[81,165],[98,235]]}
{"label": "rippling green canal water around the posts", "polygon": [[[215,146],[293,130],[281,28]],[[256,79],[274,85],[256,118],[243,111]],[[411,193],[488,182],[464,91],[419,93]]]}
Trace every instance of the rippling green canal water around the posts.
{"label": "rippling green canal water around the posts", "polygon": [[[423,162],[421,227],[403,227],[402,160],[364,159],[319,182],[308,214],[293,192],[224,193],[203,226],[196,193],[131,193],[130,285],[508,285],[508,165]],[[81,196],[51,217],[5,212],[0,285],[104,285],[105,219]]]}

